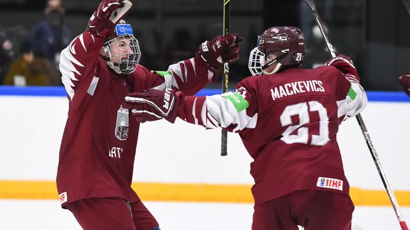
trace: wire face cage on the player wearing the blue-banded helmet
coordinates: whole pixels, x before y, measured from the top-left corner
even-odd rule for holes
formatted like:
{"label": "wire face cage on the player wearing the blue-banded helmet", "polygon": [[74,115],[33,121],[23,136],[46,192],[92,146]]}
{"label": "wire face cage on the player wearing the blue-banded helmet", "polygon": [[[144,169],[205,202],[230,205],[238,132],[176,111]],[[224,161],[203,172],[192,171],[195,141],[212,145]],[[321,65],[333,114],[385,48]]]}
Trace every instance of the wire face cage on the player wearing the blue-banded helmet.
{"label": "wire face cage on the player wearing the blue-banded helmet", "polygon": [[104,44],[106,62],[118,74],[130,74],[140,62],[140,44],[134,35],[121,35]]}

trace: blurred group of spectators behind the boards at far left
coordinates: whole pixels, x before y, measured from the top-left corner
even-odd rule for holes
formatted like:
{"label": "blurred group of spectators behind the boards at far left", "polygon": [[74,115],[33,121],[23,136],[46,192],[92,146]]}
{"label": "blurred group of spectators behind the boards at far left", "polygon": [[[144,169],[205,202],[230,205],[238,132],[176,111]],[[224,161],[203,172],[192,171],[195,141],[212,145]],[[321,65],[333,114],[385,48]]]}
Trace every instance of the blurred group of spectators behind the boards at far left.
{"label": "blurred group of spectators behind the boards at far left", "polygon": [[44,18],[31,31],[0,25],[0,84],[62,85],[60,52],[73,39],[61,0],[48,0]]}

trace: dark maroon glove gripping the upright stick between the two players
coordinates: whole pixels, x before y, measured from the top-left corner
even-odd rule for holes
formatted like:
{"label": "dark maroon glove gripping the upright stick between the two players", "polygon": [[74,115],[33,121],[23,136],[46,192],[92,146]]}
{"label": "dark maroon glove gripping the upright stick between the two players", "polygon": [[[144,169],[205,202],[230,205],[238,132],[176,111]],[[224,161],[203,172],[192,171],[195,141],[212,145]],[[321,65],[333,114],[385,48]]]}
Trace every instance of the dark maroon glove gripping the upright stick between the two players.
{"label": "dark maroon glove gripping the upright stick between the two players", "polygon": [[211,72],[216,72],[222,65],[222,59],[228,63],[238,60],[239,46],[243,38],[237,34],[228,34],[226,36],[217,36],[211,41],[205,41],[199,45],[196,56],[208,64]]}

